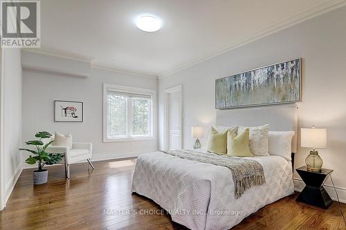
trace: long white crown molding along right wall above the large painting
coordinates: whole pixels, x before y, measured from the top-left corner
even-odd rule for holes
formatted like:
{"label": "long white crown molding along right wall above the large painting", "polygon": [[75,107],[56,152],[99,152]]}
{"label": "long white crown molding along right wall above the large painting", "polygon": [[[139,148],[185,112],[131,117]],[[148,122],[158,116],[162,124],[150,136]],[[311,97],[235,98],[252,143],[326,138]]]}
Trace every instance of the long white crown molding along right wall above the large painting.
{"label": "long white crown molding along right wall above the large painting", "polygon": [[166,73],[161,73],[158,75],[158,79],[167,77],[169,75],[172,75],[173,73],[179,72],[180,70],[183,70],[190,66],[194,66],[208,59],[212,59],[213,57],[223,54],[224,52],[228,52],[235,48],[239,48],[240,46],[244,46],[258,39],[262,39],[263,37],[272,35],[275,32],[279,32],[280,30],[284,30],[291,26],[295,26],[298,23],[302,23],[303,21],[307,21],[319,15],[323,15],[327,12],[336,10],[337,8],[341,8],[343,6],[346,6],[346,0],[329,0],[327,2],[320,3],[316,6],[312,6],[311,8],[307,10],[302,10],[291,17],[286,17],[286,19],[282,19],[281,21],[272,23],[270,26],[267,26],[266,28],[259,30],[251,35],[243,37],[242,39],[239,39],[238,41],[235,41],[232,44],[228,44],[228,46],[225,46],[224,48],[215,50],[214,52],[211,52],[209,55],[199,57],[192,61],[188,61],[187,63],[182,64],[181,66],[176,66],[175,68],[172,68],[172,70],[167,71]]}

